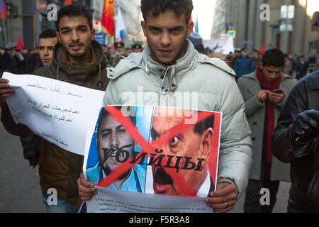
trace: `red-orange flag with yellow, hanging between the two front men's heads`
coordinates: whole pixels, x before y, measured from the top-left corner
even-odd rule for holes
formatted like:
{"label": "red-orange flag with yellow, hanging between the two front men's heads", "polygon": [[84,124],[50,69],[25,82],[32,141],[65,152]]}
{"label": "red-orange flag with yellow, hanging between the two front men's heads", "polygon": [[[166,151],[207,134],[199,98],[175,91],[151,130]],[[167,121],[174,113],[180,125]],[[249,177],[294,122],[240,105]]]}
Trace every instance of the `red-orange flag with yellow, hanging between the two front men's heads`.
{"label": "red-orange flag with yellow, hanging between the two front men's heads", "polygon": [[114,1],[104,0],[102,29],[108,33],[111,39],[114,39]]}

